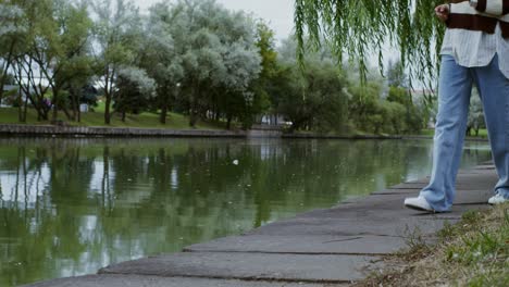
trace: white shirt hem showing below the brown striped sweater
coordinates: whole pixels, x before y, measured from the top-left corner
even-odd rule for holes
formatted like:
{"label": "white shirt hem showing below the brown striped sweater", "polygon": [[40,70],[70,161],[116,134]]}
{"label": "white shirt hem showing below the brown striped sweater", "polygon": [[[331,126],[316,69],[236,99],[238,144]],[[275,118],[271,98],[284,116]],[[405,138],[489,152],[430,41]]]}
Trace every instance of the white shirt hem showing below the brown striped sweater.
{"label": "white shirt hem showing below the brown striped sweater", "polygon": [[452,55],[459,65],[465,67],[486,66],[498,54],[500,71],[509,78],[509,38],[502,37],[500,24],[494,34],[447,28],[440,54]]}

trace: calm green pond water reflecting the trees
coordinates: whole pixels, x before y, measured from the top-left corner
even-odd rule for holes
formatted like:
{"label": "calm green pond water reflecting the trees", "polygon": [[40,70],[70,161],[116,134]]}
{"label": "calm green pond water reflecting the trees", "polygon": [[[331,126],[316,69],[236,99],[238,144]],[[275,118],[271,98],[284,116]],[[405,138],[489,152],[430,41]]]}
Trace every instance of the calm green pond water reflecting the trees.
{"label": "calm green pond water reflecting the trees", "polygon": [[[0,139],[0,286],[96,273],[426,176],[431,140]],[[468,142],[462,167],[491,159]]]}

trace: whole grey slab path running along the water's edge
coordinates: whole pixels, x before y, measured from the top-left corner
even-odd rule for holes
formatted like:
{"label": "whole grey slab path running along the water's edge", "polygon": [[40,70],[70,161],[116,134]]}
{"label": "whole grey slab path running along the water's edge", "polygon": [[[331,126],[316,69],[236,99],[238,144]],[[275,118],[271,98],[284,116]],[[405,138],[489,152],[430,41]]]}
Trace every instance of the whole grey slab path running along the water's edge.
{"label": "whole grey slab path running along the water's edge", "polygon": [[492,165],[463,171],[452,212],[423,214],[402,207],[427,178],[404,183],[333,209],[315,210],[240,236],[189,246],[184,252],[114,264],[98,275],[46,286],[343,286],[383,266],[381,257],[422,236],[434,240],[468,210],[487,209],[497,176]]}

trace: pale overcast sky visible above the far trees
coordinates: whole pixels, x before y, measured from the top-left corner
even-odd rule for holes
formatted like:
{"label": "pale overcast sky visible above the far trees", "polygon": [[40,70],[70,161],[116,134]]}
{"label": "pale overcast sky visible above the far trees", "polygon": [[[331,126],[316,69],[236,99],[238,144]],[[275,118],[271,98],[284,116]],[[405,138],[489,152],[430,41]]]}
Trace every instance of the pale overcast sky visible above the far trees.
{"label": "pale overcast sky visible above the far trees", "polygon": [[[172,0],[134,0],[146,12],[149,7],[161,1]],[[231,10],[252,13],[269,23],[278,40],[288,37],[294,30],[294,0],[216,0]]]}

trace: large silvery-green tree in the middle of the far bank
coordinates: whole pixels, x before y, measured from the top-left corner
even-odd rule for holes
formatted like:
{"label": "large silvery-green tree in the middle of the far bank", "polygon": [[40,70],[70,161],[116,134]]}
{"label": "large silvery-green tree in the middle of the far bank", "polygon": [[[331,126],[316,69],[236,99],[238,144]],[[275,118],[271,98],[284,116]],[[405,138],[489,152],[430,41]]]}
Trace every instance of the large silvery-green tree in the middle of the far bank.
{"label": "large silvery-green tree in the middle of the far bank", "polygon": [[261,71],[254,22],[213,0],[161,3],[150,11],[147,70],[158,83],[160,108],[173,103],[190,115],[190,126],[221,116],[250,126],[252,113],[263,108],[253,104],[264,104],[252,87]]}

